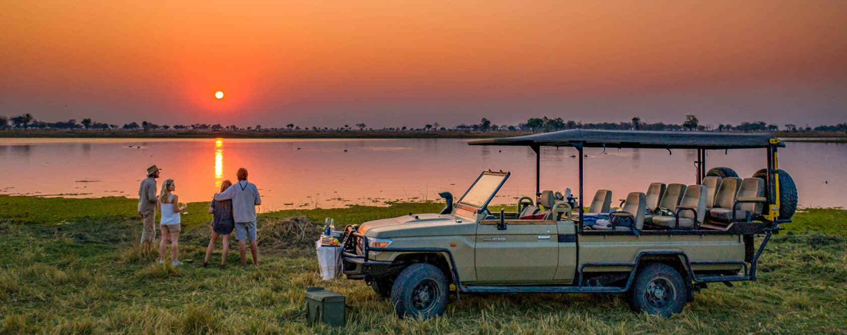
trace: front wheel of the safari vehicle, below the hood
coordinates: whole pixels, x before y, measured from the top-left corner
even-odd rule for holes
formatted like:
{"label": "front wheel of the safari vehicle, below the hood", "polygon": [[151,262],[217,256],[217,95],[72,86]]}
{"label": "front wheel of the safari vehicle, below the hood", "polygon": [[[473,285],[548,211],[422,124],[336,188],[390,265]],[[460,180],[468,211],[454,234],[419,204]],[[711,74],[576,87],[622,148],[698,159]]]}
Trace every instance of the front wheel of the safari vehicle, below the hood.
{"label": "front wheel of the safari vehicle, below the hood", "polygon": [[444,314],[449,288],[444,272],[435,265],[412,264],[394,281],[391,304],[394,304],[397,317],[429,319]]}

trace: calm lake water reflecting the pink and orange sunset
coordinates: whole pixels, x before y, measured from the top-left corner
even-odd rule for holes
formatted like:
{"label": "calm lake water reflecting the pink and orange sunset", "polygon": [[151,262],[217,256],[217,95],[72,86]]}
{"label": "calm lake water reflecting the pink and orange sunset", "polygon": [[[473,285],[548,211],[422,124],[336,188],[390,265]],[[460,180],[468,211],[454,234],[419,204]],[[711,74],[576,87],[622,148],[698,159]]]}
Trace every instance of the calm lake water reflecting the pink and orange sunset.
{"label": "calm lake water reflecting the pink and orange sunset", "polygon": [[[333,208],[386,201],[459,197],[480,171],[510,170],[496,202],[534,193],[534,153],[523,147],[468,146],[465,139],[31,139],[0,138],[0,193],[137,198],[147,166],[173,178],[180,200],[207,201],[235,170],[245,167],[263,196],[263,211]],[[653,181],[694,183],[694,150],[586,148],[585,197],[612,190],[623,198]],[[577,191],[573,148],[542,148],[542,189]],[[709,153],[709,167],[750,176],[766,163],[765,149]],[[805,207],[847,204],[847,144],[789,142],[779,151]]]}

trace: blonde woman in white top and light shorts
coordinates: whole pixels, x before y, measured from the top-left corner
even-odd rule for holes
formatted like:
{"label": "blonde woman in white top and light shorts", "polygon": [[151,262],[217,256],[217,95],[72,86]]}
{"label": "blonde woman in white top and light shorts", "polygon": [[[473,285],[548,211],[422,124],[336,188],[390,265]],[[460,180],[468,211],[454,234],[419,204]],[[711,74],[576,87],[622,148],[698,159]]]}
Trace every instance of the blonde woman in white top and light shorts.
{"label": "blonde woman in white top and light shorts", "polygon": [[162,243],[159,243],[159,264],[164,261],[165,248],[168,247],[170,240],[170,255],[171,265],[182,265],[182,262],[176,258],[176,254],[180,248],[177,241],[180,239],[180,211],[188,209],[187,205],[180,207],[180,198],[174,194],[176,184],[173,179],[167,179],[162,183],[162,193],[159,194],[158,208],[162,213],[162,220],[159,221],[159,230],[162,232]]}

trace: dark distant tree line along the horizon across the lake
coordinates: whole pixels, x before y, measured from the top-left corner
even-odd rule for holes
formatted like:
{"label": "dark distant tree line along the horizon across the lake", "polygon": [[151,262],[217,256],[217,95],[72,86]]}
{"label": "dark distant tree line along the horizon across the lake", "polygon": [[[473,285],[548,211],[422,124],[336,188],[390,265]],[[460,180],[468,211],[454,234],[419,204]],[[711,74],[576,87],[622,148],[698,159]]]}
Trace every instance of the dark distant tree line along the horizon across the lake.
{"label": "dark distant tree line along the horizon across the lake", "polygon": [[[374,131],[374,128],[368,127],[364,123],[355,125],[358,131]],[[155,131],[155,130],[171,130],[174,131],[352,131],[352,127],[344,125],[343,127],[318,127],[318,126],[296,126],[293,123],[285,125],[282,128],[265,128],[261,125],[248,126],[241,128],[235,125],[223,126],[221,124],[208,125],[205,123],[196,123],[193,125],[174,125],[174,126],[159,126],[149,121],[130,122],[123,126],[96,122],[89,118],[77,122],[75,119],[59,122],[44,122],[36,120],[32,114],[22,114],[14,117],[6,117],[0,115],[0,129],[67,129],[67,130],[126,130],[126,131]],[[551,118],[547,116],[533,117],[526,122],[519,123],[517,126],[497,125],[488,118],[479,120],[479,123],[468,125],[460,124],[448,128],[440,126],[438,122],[425,124],[421,127],[386,127],[379,131],[531,131],[531,132],[546,132],[546,131],[562,131],[567,129],[601,129],[601,130],[635,130],[635,131],[743,131],[743,132],[763,132],[763,131],[839,131],[847,132],[847,123],[840,123],[835,126],[795,126],[792,124],[783,125],[780,128],[777,125],[767,124],[764,121],[756,122],[741,122],[738,125],[720,124],[716,126],[701,125],[700,120],[693,114],[685,115],[685,120],[681,124],[671,124],[664,122],[650,123],[641,120],[635,116],[629,121],[622,122],[600,122],[600,123],[584,123],[575,120],[564,120],[561,117]]]}

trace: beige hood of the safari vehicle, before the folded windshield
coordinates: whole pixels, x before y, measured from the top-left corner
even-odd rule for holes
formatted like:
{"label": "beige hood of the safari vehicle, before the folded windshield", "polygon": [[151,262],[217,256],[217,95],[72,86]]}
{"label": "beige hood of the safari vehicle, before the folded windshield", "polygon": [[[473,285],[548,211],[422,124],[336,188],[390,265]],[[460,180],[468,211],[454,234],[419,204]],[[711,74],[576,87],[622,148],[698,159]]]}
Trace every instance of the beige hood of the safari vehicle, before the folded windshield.
{"label": "beige hood of the safari vehicle, before the folded windshield", "polygon": [[391,219],[368,221],[358,228],[358,232],[368,237],[413,237],[451,235],[454,227],[466,226],[456,222],[452,215],[419,214],[403,215]]}

